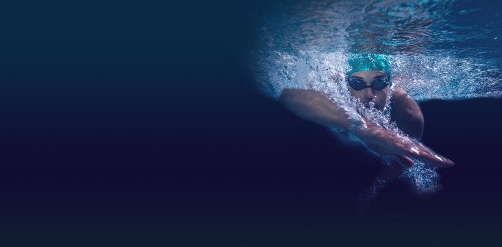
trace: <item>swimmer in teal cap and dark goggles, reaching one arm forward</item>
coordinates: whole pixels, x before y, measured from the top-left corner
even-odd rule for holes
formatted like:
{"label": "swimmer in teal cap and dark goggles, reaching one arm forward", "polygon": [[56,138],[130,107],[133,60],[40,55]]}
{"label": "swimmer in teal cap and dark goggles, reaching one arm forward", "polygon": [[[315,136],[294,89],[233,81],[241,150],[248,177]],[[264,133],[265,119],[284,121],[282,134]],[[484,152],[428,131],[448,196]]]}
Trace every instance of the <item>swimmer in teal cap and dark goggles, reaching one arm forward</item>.
{"label": "swimmer in teal cap and dark goggles, reaching one arm forward", "polygon": [[[359,99],[364,106],[374,106],[383,110],[392,86],[392,72],[387,56],[379,54],[357,54],[348,60],[349,71],[346,82],[350,94]],[[318,91],[284,89],[279,102],[292,113],[328,128],[337,128],[352,132],[368,148],[378,154],[389,155],[395,163],[403,167],[412,167],[418,159],[436,167],[454,165],[444,156],[433,152],[418,141],[413,141],[399,134],[386,130],[369,119],[354,123],[346,112],[337,104]],[[424,117],[420,106],[407,93],[397,86],[392,91],[391,121],[409,137],[420,139],[423,133]]]}

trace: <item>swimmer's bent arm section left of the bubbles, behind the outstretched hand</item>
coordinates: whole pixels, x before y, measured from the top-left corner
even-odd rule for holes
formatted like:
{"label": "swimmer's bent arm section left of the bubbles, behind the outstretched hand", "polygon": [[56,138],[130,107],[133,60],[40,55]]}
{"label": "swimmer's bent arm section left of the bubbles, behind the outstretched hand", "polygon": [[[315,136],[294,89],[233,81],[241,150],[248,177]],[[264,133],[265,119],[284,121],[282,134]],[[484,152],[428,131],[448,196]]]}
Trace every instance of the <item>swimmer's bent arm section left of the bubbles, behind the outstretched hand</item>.
{"label": "swimmer's bent arm section left of the bubbles, behind the outstretched hand", "polygon": [[344,110],[316,91],[285,89],[279,102],[299,117],[322,126],[349,130],[353,124]]}

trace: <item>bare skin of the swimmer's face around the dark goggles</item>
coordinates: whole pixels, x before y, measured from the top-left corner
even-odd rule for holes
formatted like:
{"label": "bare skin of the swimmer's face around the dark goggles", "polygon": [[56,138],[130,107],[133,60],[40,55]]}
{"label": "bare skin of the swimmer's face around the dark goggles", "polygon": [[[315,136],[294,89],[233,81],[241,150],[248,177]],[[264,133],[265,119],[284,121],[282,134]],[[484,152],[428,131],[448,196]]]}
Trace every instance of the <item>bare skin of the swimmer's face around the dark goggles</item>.
{"label": "bare skin of the swimmer's face around the dark goggles", "polygon": [[[379,78],[387,78],[387,75],[381,71],[359,71],[356,73],[352,73],[350,75],[350,78],[357,78],[361,79],[364,82],[366,82],[367,86],[371,86],[373,80],[379,79]],[[371,87],[368,87],[366,89],[361,89],[359,91],[356,91],[352,89],[351,86],[348,86],[348,90],[350,91],[350,94],[354,96],[356,99],[359,99],[361,103],[364,104],[364,106],[368,107],[370,105],[370,102],[374,103],[374,108],[377,108],[378,110],[383,110],[383,107],[385,107],[385,104],[387,104],[387,96],[389,95],[389,85],[385,86],[384,89],[382,90],[376,90],[372,89]]]}

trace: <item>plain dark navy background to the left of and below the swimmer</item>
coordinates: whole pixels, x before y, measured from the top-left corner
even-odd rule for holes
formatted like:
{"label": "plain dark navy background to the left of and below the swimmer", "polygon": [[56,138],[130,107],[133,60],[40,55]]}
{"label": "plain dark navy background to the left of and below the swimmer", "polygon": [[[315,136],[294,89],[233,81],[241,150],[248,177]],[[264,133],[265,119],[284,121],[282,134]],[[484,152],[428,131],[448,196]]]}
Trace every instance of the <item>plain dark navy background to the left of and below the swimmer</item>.
{"label": "plain dark navy background to the left of and below the swimmer", "polygon": [[444,189],[392,183],[357,213],[379,159],[254,91],[263,6],[4,5],[0,242],[497,241],[502,100],[421,104]]}

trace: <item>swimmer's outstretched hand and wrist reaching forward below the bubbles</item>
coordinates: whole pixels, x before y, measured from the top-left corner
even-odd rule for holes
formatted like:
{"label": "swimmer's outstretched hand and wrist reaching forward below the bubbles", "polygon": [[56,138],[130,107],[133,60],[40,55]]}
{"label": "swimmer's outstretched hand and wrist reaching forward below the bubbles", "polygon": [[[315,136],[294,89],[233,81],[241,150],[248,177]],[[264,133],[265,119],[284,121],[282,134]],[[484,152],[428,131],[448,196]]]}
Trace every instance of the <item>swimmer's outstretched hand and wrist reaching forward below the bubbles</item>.
{"label": "swimmer's outstretched hand and wrist reaching forward below the bubbles", "polygon": [[366,121],[366,128],[357,129],[354,133],[370,149],[379,154],[391,155],[404,167],[414,165],[411,158],[416,158],[436,167],[452,167],[455,164],[448,158],[433,152],[422,143],[407,137],[401,137],[394,132],[373,124],[371,121]]}

